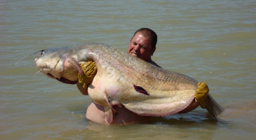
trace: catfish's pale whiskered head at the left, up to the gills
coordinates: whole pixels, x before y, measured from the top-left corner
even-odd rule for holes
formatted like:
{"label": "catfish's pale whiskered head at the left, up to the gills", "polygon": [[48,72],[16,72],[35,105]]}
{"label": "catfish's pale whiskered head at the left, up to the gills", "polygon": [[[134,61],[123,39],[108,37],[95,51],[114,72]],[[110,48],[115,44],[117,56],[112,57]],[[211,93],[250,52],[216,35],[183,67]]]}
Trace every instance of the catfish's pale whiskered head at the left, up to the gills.
{"label": "catfish's pale whiskered head at the left, up to the gills", "polygon": [[83,70],[75,60],[75,51],[72,47],[46,49],[35,59],[35,64],[48,77],[65,84],[76,84],[77,74],[83,75]]}

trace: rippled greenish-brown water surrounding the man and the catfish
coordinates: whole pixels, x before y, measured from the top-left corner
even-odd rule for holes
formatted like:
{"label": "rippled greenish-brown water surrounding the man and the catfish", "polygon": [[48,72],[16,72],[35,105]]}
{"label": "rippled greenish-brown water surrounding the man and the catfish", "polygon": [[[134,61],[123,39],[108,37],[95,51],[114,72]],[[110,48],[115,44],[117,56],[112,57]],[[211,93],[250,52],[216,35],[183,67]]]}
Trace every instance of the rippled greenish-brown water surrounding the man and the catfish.
{"label": "rippled greenish-brown water surrounding the man and the catfish", "polygon": [[[41,49],[102,42],[126,51],[142,27],[158,34],[153,60],[206,82],[226,108],[127,126],[85,119],[91,100],[39,73]],[[157,86],[157,85],[156,85]],[[227,140],[256,138],[255,0],[0,0],[1,140]]]}

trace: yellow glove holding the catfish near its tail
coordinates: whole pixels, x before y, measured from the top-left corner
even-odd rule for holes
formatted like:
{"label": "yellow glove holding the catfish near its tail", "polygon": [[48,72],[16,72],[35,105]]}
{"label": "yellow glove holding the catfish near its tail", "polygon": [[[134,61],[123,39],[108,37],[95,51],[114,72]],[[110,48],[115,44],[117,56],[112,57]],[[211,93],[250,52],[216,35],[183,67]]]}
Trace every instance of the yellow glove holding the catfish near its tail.
{"label": "yellow glove holding the catfish near its tail", "polygon": [[202,108],[206,108],[206,98],[208,96],[209,88],[207,84],[203,82],[198,82],[196,92],[195,92],[195,100],[199,102]]}

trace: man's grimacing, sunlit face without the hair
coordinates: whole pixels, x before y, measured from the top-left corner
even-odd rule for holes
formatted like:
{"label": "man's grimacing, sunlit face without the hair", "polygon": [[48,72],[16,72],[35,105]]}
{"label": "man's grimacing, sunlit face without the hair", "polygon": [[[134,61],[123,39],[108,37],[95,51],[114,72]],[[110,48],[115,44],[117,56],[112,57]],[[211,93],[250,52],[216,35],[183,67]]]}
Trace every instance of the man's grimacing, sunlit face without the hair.
{"label": "man's grimacing, sunlit face without the hair", "polygon": [[155,49],[151,49],[151,39],[138,32],[129,44],[128,54],[151,62],[151,56],[155,51]]}

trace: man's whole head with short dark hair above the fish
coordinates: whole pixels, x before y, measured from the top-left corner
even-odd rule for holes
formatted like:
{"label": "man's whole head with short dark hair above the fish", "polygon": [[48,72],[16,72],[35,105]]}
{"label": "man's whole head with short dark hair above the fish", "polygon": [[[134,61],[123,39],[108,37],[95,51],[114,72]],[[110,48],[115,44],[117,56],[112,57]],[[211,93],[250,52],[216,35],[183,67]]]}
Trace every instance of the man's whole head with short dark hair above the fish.
{"label": "man's whole head with short dark hair above the fish", "polygon": [[156,50],[157,34],[149,28],[138,29],[129,44],[128,54],[151,62],[151,56]]}

